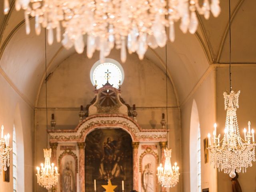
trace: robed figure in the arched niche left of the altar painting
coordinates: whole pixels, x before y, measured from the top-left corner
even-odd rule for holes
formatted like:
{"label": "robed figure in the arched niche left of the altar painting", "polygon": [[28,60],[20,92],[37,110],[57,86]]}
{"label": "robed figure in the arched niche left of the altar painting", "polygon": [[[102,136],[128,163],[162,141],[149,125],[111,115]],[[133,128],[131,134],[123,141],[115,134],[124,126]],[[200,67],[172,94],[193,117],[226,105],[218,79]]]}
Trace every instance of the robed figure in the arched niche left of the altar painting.
{"label": "robed figure in the arched niche left of the altar painting", "polygon": [[62,171],[62,192],[75,192],[74,174],[70,169],[71,162],[66,162]]}

